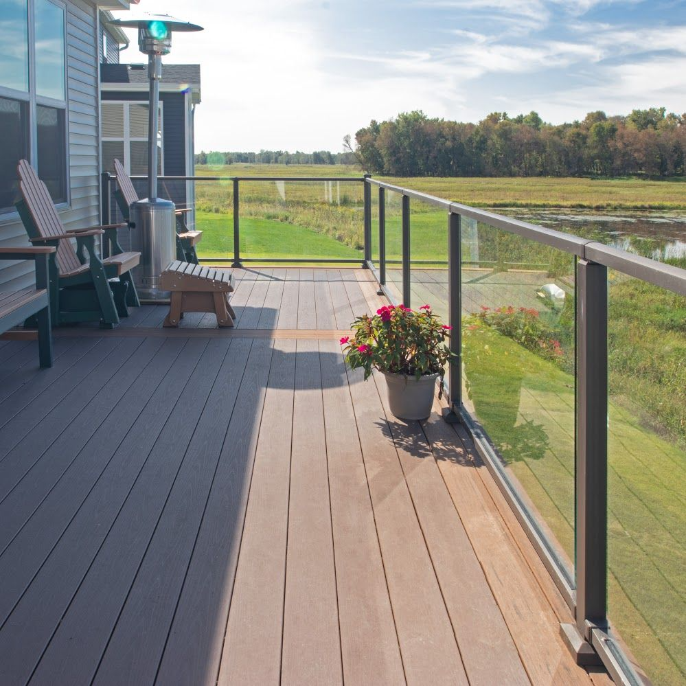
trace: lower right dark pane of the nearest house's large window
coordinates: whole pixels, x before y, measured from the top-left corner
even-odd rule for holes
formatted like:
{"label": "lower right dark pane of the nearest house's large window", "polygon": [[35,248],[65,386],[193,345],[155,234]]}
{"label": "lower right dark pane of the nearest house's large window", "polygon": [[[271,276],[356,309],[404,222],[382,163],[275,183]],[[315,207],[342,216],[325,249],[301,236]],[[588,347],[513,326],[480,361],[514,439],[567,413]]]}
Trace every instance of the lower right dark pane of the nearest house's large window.
{"label": "lower right dark pane of the nearest house's large window", "polygon": [[38,176],[54,203],[67,202],[67,155],[65,111],[54,107],[36,107],[38,132]]}

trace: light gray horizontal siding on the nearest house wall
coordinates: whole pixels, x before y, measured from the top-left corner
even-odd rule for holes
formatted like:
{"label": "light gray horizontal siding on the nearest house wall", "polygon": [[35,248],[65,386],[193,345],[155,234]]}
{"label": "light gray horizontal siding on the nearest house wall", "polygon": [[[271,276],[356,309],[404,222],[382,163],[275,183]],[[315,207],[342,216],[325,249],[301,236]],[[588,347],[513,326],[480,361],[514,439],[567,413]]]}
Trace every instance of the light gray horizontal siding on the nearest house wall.
{"label": "light gray horizontal siding on the nearest house wall", "polygon": [[[71,202],[60,210],[66,228],[100,223],[100,144],[98,141],[98,30],[95,6],[67,1],[67,98]],[[27,244],[16,214],[0,221],[0,246]],[[1,265],[1,263],[0,263]],[[0,266],[0,288],[22,288],[33,280],[26,262]]]}

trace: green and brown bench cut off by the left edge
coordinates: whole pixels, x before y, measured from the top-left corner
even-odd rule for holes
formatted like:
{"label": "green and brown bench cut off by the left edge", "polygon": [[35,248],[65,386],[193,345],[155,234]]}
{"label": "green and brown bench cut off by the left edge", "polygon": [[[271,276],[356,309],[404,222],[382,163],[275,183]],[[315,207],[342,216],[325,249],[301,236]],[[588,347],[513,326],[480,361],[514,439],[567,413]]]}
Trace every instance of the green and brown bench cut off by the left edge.
{"label": "green and brown bench cut off by the left edge", "polygon": [[0,334],[31,317],[38,323],[38,359],[41,367],[52,367],[52,332],[48,292],[48,258],[56,248],[0,248],[0,260],[34,260],[36,287],[0,292]]}

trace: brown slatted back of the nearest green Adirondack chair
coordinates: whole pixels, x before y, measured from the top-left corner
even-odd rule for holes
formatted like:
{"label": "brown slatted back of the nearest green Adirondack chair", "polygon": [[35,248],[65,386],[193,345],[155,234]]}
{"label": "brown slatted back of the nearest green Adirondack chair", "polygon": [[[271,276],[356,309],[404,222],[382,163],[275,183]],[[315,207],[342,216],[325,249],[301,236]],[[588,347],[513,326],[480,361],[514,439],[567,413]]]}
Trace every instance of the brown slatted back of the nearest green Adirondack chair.
{"label": "brown slatted back of the nearest green Adirondack chair", "polygon": [[[45,183],[38,179],[38,174],[36,174],[34,168],[25,159],[19,161],[17,171],[19,172],[21,195],[24,198],[36,231],[38,231],[38,236],[30,236],[30,238],[61,236],[65,233],[65,227],[62,225],[62,220],[57,214]],[[81,266],[71,241],[60,240],[58,242],[57,264],[60,268],[60,273],[67,273]]]}

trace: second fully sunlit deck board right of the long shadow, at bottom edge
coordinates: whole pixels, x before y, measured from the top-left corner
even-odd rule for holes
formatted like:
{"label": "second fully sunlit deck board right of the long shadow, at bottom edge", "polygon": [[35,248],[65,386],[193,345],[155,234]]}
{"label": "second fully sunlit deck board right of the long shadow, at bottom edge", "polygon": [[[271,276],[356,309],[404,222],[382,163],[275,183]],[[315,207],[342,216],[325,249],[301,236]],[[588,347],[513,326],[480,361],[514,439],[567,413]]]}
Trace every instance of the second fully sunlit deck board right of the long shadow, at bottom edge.
{"label": "second fully sunlit deck board right of the long shadow, at bottom edge", "polygon": [[282,683],[343,683],[317,341],[298,341]]}

